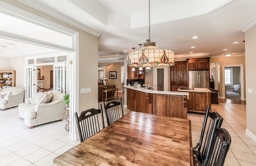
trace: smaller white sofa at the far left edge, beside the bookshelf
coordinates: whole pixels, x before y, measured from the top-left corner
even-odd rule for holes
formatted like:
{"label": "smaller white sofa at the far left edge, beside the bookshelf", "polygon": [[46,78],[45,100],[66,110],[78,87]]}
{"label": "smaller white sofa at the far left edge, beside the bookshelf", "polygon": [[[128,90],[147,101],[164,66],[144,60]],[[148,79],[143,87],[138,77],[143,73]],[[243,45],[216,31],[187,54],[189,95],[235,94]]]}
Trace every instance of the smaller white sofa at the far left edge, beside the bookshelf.
{"label": "smaller white sofa at the far left edge, beside the bookshelf", "polygon": [[3,89],[1,93],[6,94],[4,98],[0,98],[0,109],[2,109],[2,111],[8,108],[16,107],[24,101],[24,88],[9,87]]}

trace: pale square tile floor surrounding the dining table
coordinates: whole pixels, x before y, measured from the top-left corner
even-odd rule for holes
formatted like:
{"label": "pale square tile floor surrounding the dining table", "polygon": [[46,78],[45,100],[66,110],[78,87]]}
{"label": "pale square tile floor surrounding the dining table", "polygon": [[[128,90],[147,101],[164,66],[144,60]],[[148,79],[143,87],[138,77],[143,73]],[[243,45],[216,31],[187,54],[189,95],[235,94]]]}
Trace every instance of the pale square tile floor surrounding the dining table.
{"label": "pale square tile floor surrounding the dining table", "polygon": [[[122,97],[122,96],[120,96]],[[232,136],[225,166],[256,166],[256,143],[244,132],[246,105],[219,103],[212,111],[224,117],[222,127]],[[124,114],[130,110],[124,108]],[[200,138],[204,115],[189,113],[193,145]],[[80,141],[68,139],[66,120],[29,129],[18,117],[18,108],[0,111],[0,166],[53,166],[53,159]]]}

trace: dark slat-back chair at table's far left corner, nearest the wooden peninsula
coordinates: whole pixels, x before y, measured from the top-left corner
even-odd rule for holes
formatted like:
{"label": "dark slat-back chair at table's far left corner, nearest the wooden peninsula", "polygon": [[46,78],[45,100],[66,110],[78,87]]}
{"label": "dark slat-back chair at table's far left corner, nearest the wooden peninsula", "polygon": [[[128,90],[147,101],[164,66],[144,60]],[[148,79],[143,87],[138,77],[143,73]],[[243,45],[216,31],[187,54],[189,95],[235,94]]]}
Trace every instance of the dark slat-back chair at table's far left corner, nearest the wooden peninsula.
{"label": "dark slat-back chair at table's far left corner, nearest the wooden peninsula", "polygon": [[104,105],[104,110],[105,110],[108,125],[114,123],[115,121],[121,118],[120,111],[121,111],[122,117],[124,116],[121,98],[119,98],[119,102],[111,101],[106,104],[103,103],[103,105]]}

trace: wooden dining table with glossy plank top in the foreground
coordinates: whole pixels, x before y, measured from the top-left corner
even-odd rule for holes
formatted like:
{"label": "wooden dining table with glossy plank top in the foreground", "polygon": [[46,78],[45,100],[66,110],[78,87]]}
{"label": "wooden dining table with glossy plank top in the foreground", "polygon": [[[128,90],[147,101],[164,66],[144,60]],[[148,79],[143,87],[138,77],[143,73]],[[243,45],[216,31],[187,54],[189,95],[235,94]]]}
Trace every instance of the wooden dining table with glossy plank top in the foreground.
{"label": "wooden dining table with glossy plank top in the foreground", "polygon": [[54,159],[58,166],[193,166],[188,119],[130,112]]}

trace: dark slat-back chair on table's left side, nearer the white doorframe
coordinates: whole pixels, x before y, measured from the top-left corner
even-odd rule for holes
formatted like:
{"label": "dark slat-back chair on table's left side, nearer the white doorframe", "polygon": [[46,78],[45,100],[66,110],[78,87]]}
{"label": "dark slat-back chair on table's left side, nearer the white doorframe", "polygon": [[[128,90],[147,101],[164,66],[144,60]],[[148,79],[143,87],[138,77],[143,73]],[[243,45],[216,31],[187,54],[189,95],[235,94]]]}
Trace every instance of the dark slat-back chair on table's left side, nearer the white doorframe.
{"label": "dark slat-back chair on table's left side, nearer the white doorframe", "polygon": [[[102,125],[100,125],[99,117]],[[100,109],[82,111],[79,117],[75,113],[75,118],[81,142],[105,128],[101,104]]]}

